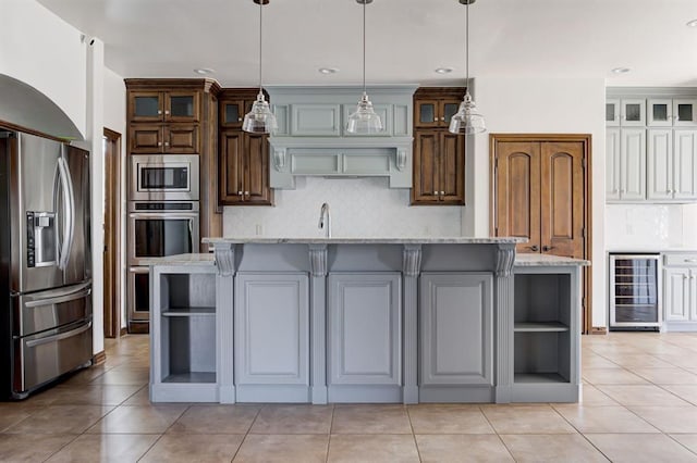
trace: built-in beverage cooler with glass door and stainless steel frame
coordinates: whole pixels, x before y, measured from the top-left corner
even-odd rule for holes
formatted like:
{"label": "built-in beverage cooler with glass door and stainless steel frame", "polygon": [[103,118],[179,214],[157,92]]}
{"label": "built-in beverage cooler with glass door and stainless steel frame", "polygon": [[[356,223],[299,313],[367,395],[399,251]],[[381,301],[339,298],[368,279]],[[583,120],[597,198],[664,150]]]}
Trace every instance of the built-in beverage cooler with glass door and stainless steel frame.
{"label": "built-in beverage cooler with glass door and stainless steel frame", "polygon": [[610,254],[610,329],[659,330],[660,254]]}

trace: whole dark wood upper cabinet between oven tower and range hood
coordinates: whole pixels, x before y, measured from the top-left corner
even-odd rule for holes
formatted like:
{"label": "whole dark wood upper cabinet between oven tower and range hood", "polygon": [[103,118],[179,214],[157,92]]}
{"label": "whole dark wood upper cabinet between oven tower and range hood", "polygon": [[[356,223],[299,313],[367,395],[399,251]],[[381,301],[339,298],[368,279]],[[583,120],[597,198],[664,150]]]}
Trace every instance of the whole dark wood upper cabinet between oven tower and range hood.
{"label": "whole dark wood upper cabinet between oven tower and range hood", "polygon": [[258,89],[237,88],[223,90],[220,96],[220,205],[273,205],[268,135],[242,130],[244,114],[257,93]]}

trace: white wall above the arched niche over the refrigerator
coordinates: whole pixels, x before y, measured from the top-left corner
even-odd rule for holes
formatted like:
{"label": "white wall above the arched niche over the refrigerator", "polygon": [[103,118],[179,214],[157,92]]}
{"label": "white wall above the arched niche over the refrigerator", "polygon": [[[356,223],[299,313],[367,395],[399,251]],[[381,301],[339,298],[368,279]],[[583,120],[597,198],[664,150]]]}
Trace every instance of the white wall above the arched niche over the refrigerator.
{"label": "white wall above the arched niche over the refrigerator", "polygon": [[2,0],[0,74],[46,95],[87,133],[87,55],[82,34],[35,0]]}

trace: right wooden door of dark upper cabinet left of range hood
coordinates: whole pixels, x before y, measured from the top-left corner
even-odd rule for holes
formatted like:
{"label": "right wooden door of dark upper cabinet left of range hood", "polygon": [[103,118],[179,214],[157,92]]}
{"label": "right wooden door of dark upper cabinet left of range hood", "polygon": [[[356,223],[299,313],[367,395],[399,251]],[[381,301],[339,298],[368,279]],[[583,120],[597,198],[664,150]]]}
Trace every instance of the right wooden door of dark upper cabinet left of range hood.
{"label": "right wooden door of dark upper cabinet left of range hood", "polygon": [[244,134],[243,195],[246,204],[272,205],[269,188],[269,140],[266,134]]}

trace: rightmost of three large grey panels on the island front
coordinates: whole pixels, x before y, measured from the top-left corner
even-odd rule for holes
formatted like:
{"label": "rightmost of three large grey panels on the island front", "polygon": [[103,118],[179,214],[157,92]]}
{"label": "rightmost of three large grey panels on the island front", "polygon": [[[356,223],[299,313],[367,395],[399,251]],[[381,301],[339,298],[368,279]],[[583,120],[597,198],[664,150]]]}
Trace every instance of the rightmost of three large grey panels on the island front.
{"label": "rightmost of three large grey panels on the island front", "polygon": [[491,386],[492,276],[424,272],[419,291],[421,396],[430,386]]}

